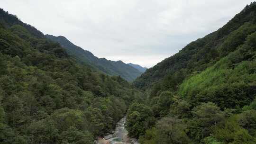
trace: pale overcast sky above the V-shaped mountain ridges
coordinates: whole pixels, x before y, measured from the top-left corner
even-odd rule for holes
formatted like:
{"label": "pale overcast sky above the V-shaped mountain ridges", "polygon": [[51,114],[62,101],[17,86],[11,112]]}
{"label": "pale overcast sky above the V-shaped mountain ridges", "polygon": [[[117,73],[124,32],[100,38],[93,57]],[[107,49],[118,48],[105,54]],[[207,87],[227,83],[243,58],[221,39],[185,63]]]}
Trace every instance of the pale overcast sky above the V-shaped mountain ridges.
{"label": "pale overcast sky above the V-shaped mountain ridges", "polygon": [[252,1],[0,0],[0,8],[98,57],[151,67],[222,27]]}

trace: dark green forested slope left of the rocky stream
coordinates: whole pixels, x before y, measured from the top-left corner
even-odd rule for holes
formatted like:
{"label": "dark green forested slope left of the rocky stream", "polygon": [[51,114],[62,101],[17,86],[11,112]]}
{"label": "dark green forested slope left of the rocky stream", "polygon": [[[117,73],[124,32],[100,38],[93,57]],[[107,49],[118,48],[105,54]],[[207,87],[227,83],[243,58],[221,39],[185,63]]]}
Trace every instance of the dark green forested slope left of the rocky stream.
{"label": "dark green forested slope left of the rocky stream", "polygon": [[140,96],[0,9],[0,144],[93,144]]}

